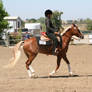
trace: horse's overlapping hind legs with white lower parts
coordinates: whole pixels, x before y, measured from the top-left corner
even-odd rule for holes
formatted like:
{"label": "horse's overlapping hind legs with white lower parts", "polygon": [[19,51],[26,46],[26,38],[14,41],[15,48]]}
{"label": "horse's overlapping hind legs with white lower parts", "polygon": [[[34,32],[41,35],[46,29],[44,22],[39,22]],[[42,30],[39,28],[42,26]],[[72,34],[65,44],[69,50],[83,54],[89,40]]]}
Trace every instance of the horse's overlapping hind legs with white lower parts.
{"label": "horse's overlapping hind legs with white lower parts", "polygon": [[26,62],[26,68],[27,68],[29,77],[35,76],[35,71],[31,66],[31,63],[32,63],[32,61],[34,60],[35,57],[36,57],[36,54],[30,55],[27,62]]}

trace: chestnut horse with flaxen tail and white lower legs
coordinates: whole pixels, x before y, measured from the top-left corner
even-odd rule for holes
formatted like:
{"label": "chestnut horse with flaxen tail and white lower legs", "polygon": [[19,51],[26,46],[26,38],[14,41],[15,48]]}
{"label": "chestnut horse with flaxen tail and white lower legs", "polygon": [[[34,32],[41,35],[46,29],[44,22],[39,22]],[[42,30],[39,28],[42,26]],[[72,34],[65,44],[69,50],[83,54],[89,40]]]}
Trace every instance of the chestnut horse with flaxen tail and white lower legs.
{"label": "chestnut horse with flaxen tail and white lower legs", "polygon": [[[62,35],[62,47],[58,46],[58,53],[56,54],[57,56],[57,65],[56,69],[53,70],[51,73],[49,73],[50,76],[56,73],[56,71],[60,67],[60,62],[61,59],[63,58],[66,64],[68,65],[68,71],[69,75],[72,75],[71,67],[70,67],[70,62],[67,58],[67,50],[69,47],[69,42],[71,41],[72,36],[75,35],[81,39],[84,38],[83,34],[80,32],[78,27],[75,24],[72,24],[70,28],[68,28]],[[12,62],[9,65],[14,66],[16,62],[18,61],[20,57],[20,46],[23,46],[23,50],[28,58],[26,61],[26,68],[29,74],[29,77],[33,77],[35,75],[35,71],[31,66],[32,61],[35,59],[38,53],[42,54],[47,54],[47,55],[52,55],[52,46],[45,46],[45,45],[38,45],[36,37],[32,37],[30,39],[27,39],[25,41],[21,41],[18,44],[15,45],[13,51],[14,51],[14,58],[12,58]]]}

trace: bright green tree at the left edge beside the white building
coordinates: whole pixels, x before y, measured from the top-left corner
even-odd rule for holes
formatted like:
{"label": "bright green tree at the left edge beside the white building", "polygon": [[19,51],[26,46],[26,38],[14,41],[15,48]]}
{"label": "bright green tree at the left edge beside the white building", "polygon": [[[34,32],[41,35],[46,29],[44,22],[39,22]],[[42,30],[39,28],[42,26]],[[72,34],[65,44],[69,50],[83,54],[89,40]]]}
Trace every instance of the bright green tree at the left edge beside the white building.
{"label": "bright green tree at the left edge beside the white building", "polygon": [[8,16],[8,13],[4,9],[2,0],[0,0],[0,34],[4,29],[8,28],[8,22],[4,20],[5,16]]}

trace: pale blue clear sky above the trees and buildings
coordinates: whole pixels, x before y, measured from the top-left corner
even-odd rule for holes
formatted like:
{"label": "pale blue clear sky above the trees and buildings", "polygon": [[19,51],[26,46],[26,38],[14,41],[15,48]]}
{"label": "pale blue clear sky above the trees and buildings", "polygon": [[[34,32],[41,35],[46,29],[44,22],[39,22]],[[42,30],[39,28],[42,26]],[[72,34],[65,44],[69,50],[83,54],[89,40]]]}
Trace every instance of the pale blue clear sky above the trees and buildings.
{"label": "pale blue clear sky above the trees and buildings", "polygon": [[62,11],[63,20],[92,19],[92,0],[2,0],[11,16],[22,19],[44,17],[46,9]]}

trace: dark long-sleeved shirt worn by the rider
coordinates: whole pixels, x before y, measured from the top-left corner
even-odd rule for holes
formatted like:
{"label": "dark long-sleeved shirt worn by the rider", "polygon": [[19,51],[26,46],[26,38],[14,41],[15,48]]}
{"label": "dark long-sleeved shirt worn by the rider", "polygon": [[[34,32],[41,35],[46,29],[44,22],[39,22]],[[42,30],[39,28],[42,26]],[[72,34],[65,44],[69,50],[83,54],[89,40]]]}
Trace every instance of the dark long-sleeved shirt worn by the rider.
{"label": "dark long-sleeved shirt worn by the rider", "polygon": [[55,29],[55,27],[53,26],[53,24],[52,24],[52,22],[51,22],[51,19],[46,18],[46,20],[45,20],[45,25],[46,25],[46,34],[56,32],[56,29]]}

